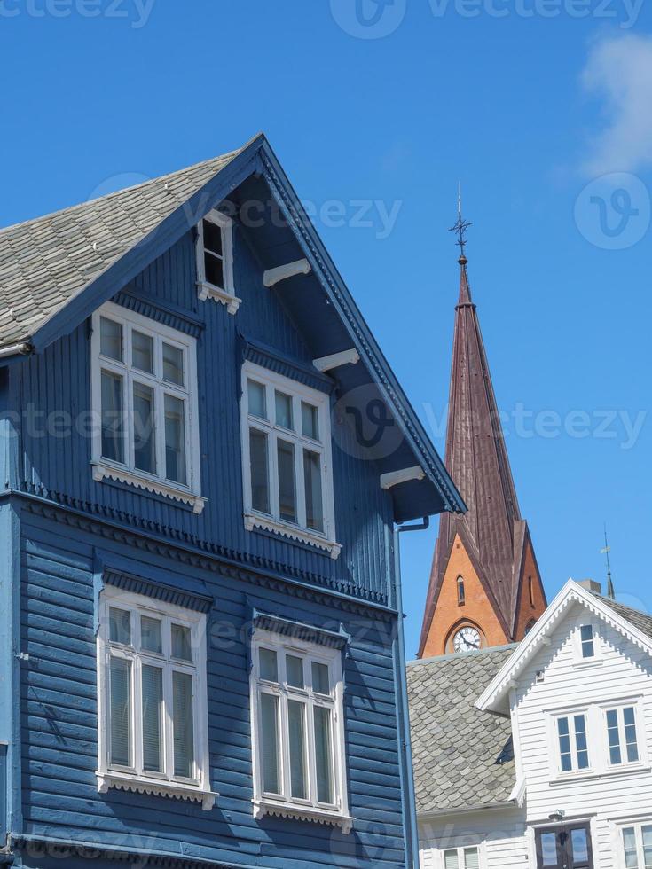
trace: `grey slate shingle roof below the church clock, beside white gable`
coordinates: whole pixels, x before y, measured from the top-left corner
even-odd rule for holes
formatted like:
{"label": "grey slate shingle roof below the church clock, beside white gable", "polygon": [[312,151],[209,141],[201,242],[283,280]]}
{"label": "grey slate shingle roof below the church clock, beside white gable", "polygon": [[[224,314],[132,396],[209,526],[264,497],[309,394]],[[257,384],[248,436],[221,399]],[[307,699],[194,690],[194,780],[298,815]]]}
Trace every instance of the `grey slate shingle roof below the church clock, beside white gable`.
{"label": "grey slate shingle roof below the church clock, beside white gable", "polygon": [[408,664],[417,810],[481,808],[507,802],[515,786],[507,718],[475,701],[516,646]]}

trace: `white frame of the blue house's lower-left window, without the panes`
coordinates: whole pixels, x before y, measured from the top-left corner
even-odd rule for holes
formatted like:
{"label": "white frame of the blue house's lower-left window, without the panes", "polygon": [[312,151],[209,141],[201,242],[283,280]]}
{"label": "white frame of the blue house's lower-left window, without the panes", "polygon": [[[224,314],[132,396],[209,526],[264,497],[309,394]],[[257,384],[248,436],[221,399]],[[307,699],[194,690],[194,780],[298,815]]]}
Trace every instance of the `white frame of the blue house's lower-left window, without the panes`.
{"label": "white frame of the blue house's lower-left window, without the panes", "polygon": [[[122,646],[111,641],[109,610],[111,607],[130,612],[131,642]],[[162,622],[163,654],[140,648],[140,616]],[[171,657],[170,625],[181,624],[191,631],[192,662]],[[177,607],[160,600],[114,586],[105,586],[99,597],[98,627],[98,791],[105,794],[110,787],[136,793],[156,794],[183,800],[201,802],[202,809],[210,810],[216,800],[211,791],[208,766],[208,691],[206,681],[206,615]],[[110,701],[109,666],[112,657],[131,664],[130,678],[130,732],[131,763],[129,766],[110,763]],[[142,740],[142,668],[151,665],[163,670],[163,738],[164,772],[143,770]],[[194,776],[192,779],[175,776],[172,705],[172,672],[192,676]]]}

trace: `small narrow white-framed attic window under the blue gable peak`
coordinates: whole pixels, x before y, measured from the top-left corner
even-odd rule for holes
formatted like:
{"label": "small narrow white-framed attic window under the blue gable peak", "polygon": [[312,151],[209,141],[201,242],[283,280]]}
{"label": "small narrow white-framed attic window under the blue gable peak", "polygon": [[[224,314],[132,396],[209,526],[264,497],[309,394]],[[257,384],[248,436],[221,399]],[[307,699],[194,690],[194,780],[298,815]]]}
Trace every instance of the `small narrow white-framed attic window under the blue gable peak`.
{"label": "small narrow white-framed attic window under the blue gable peak", "polygon": [[201,301],[214,299],[230,314],[240,307],[233,287],[233,224],[211,211],[197,227],[197,286]]}

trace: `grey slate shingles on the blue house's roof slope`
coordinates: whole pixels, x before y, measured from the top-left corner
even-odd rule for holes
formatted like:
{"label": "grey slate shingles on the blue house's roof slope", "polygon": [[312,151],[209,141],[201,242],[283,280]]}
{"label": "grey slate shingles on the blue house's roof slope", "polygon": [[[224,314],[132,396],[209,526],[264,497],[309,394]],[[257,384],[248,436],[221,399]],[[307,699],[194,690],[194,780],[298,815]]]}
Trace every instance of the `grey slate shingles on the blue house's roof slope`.
{"label": "grey slate shingles on the blue house's roof slope", "polygon": [[0,230],[0,347],[28,341],[244,147]]}

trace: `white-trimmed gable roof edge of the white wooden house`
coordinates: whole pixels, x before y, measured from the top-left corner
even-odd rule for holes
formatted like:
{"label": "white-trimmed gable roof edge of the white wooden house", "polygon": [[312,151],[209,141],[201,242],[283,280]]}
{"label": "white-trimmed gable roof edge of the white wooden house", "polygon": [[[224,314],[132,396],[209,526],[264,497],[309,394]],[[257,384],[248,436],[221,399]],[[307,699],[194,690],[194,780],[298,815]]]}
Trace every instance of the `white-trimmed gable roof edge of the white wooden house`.
{"label": "white-trimmed gable roof edge of the white wooden house", "polygon": [[625,607],[624,604],[594,594],[570,579],[530,633],[522,639],[514,654],[492,679],[491,684],[487,685],[477,701],[478,709],[496,712],[499,715],[508,713],[508,694],[511,685],[539,649],[550,645],[550,634],[574,604],[585,607],[590,613],[597,615],[625,638],[631,640],[635,646],[652,655],[652,618],[632,607]]}

